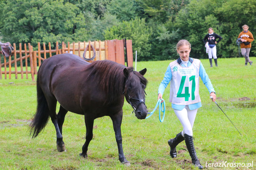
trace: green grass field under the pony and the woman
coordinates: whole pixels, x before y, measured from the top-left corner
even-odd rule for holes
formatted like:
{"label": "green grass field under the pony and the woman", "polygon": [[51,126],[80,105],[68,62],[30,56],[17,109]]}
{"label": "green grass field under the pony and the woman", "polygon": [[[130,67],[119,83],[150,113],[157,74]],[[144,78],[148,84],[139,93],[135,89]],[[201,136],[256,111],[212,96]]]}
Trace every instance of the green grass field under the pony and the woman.
{"label": "green grass field under the pony and the woman", "polygon": [[[239,135],[210,100],[209,92],[200,80],[203,106],[198,109],[193,135],[198,158],[207,170],[256,169],[256,58],[250,58],[255,63],[247,67],[244,58],[218,59],[219,67],[212,68],[209,60],[201,60],[216,91],[217,103],[242,134]],[[146,105],[149,111],[155,107],[158,86],[169,63],[137,63],[137,71],[147,68]],[[28,135],[28,125],[36,111],[36,83],[32,82],[30,75],[28,77],[28,80],[20,79],[19,75],[15,80],[15,75],[12,75],[11,80],[0,80],[0,169],[197,169],[191,165],[185,142],[177,146],[177,158],[169,156],[167,141],[182,131],[168,102],[169,85],[163,95],[166,101],[163,123],[159,121],[158,111],[149,119],[137,119],[131,106],[125,102],[121,129],[124,154],[131,163],[125,167],[118,160],[112,121],[106,116],[94,122],[88,159],[79,156],[85,142],[85,124],[81,115],[70,112],[66,115],[63,141],[67,152],[57,151],[56,132],[51,122],[32,140]],[[236,167],[239,165],[250,167]]]}

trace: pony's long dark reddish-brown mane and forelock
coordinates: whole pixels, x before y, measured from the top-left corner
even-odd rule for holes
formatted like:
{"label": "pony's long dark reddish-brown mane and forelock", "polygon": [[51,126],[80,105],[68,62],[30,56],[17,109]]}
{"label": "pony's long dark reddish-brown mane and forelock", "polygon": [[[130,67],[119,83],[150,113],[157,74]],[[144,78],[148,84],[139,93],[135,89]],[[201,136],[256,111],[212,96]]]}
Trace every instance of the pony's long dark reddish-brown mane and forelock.
{"label": "pony's long dark reddish-brown mane and forelock", "polygon": [[[123,73],[124,68],[127,68],[130,73],[127,80]],[[116,96],[120,96],[124,92],[125,82],[135,85],[141,81],[145,86],[147,85],[147,79],[139,72],[133,71],[133,67],[125,67],[110,60],[94,61],[86,70],[90,70],[87,78],[93,79],[99,88],[109,94],[106,103],[111,103],[116,99]]]}

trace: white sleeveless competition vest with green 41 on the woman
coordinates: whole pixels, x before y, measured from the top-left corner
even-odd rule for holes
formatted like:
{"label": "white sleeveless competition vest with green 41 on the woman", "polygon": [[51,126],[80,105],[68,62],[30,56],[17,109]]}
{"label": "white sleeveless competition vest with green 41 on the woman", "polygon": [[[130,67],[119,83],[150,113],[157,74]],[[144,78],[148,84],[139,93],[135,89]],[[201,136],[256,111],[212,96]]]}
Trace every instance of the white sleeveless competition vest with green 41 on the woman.
{"label": "white sleeveless competition vest with green 41 on the woman", "polygon": [[177,60],[171,62],[172,80],[170,82],[170,102],[178,105],[189,105],[201,102],[199,96],[200,60],[193,59],[189,67],[182,67]]}

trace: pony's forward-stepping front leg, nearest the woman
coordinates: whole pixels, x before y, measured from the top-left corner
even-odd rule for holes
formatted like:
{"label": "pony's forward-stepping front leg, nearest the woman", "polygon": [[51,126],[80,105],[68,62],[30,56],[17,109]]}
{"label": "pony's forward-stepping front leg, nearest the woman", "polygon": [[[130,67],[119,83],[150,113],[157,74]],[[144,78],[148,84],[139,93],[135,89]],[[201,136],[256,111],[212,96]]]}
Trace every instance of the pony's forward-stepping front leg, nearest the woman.
{"label": "pony's forward-stepping front leg, nearest the woman", "polygon": [[124,153],[123,153],[123,145],[122,145],[122,134],[121,134],[121,124],[123,118],[123,111],[118,114],[111,116],[113,127],[115,131],[116,141],[117,141],[117,148],[119,153],[119,161],[126,166],[130,166],[131,163],[126,160]]}

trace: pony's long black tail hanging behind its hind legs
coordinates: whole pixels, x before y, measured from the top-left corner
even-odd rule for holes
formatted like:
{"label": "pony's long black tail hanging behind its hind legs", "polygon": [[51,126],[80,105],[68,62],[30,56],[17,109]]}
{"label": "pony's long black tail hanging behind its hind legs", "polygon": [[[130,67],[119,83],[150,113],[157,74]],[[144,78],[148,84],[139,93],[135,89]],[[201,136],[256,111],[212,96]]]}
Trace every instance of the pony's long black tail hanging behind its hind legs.
{"label": "pony's long black tail hanging behind its hind legs", "polygon": [[[38,70],[39,72],[39,70]],[[44,129],[49,120],[49,107],[44,96],[43,90],[39,85],[39,79],[37,77],[36,81],[37,90],[37,109],[36,114],[30,124],[30,136],[32,138],[37,137],[37,135]]]}

